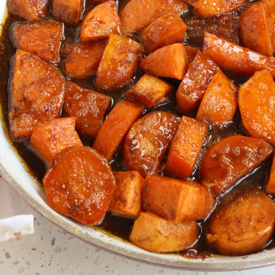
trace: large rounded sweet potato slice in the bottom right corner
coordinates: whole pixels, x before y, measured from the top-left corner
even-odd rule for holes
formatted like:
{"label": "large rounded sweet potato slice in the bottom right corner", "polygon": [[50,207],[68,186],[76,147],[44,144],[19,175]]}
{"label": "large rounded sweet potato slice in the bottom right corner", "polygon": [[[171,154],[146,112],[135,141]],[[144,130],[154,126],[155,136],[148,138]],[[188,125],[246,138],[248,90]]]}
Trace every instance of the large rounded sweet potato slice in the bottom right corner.
{"label": "large rounded sweet potato slice in the bottom right corner", "polygon": [[258,189],[251,190],[214,213],[206,238],[226,255],[251,253],[270,240],[274,216],[274,201]]}

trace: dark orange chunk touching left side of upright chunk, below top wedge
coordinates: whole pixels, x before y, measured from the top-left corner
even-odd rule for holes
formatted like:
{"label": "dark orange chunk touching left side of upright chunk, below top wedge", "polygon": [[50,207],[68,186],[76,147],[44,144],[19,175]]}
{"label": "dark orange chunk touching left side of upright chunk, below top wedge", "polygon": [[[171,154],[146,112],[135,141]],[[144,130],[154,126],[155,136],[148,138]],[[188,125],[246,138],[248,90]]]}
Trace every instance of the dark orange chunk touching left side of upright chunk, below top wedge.
{"label": "dark orange chunk touching left side of upright chunk, below top wedge", "polygon": [[71,79],[91,78],[96,74],[105,46],[105,40],[65,43],[62,47],[65,75]]}

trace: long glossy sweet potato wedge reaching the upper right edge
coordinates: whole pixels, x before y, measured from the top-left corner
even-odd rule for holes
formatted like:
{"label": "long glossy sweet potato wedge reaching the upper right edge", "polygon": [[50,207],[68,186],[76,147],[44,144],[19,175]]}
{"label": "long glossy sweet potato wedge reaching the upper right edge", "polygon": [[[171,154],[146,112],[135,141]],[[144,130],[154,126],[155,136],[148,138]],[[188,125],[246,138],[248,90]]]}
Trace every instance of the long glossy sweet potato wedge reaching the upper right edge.
{"label": "long glossy sweet potato wedge reaching the upper right edge", "polygon": [[275,57],[241,47],[214,34],[204,33],[202,51],[221,69],[242,75],[252,75],[257,70],[268,69],[272,77],[275,77]]}

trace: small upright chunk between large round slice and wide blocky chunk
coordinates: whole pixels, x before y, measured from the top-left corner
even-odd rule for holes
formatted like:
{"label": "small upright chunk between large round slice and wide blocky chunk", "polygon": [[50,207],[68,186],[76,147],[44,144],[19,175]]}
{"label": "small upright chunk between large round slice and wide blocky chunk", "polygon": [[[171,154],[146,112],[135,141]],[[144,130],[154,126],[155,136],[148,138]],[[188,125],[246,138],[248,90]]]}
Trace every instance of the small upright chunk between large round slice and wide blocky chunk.
{"label": "small upright chunk between large round slice and wide blocky chunk", "polygon": [[142,210],[144,178],[137,171],[113,172],[115,189],[109,210],[118,215],[138,218]]}

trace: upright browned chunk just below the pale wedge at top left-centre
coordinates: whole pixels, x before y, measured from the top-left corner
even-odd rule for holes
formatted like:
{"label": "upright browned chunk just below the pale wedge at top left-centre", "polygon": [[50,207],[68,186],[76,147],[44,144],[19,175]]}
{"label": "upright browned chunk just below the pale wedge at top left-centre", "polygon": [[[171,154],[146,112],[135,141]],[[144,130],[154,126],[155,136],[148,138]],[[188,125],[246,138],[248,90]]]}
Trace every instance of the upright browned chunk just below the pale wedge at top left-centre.
{"label": "upright browned chunk just below the pale wedge at top left-centre", "polygon": [[96,72],[96,88],[115,89],[127,84],[134,76],[141,52],[136,41],[111,34]]}

